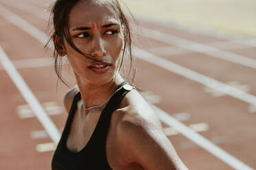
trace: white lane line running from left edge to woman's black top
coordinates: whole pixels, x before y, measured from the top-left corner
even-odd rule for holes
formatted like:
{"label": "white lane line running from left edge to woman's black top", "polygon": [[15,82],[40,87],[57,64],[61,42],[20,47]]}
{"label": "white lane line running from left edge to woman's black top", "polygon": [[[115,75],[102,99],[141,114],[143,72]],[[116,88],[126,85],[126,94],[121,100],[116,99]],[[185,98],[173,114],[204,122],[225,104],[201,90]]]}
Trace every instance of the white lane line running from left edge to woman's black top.
{"label": "white lane line running from left edge to woman's black top", "polygon": [[32,110],[34,111],[34,114],[36,114],[36,117],[45,128],[47,134],[49,134],[50,138],[52,138],[52,141],[54,141],[54,143],[58,143],[58,140],[61,137],[60,132],[58,132],[58,129],[56,128],[50,117],[48,117],[48,115],[45,113],[43,107],[41,106],[41,104],[39,104],[39,101],[36,99],[28,85],[25,83],[25,81],[1,47],[0,61],[3,65],[3,68],[12,79],[12,82],[14,82],[14,84],[17,86],[25,101],[27,101],[30,108],[32,108]]}

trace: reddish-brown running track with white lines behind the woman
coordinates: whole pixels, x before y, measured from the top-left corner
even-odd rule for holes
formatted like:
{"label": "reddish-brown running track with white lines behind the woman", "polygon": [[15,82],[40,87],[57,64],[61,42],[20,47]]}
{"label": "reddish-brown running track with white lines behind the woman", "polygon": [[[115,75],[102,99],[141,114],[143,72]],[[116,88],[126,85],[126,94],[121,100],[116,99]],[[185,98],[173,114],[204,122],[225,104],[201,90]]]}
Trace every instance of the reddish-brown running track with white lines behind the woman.
{"label": "reddish-brown running track with white lines behind the woman", "polygon": [[[0,0],[0,169],[50,169],[67,113],[40,2]],[[142,19],[136,82],[189,169],[256,169],[256,40]],[[64,76],[74,84],[72,73]]]}

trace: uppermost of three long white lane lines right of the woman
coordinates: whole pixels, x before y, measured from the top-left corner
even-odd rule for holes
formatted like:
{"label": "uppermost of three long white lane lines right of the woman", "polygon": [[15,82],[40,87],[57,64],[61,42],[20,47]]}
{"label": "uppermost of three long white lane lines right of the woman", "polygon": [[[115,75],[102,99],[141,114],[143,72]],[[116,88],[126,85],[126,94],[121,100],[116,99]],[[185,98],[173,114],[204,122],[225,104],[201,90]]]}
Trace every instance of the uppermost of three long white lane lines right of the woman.
{"label": "uppermost of three long white lane lines right of the woman", "polygon": [[231,53],[228,51],[224,51],[221,49],[217,49],[215,47],[211,47],[209,45],[203,45],[198,42],[193,42],[192,40],[186,40],[184,38],[178,38],[177,36],[172,36],[170,34],[166,34],[164,32],[159,32],[156,29],[149,29],[146,27],[142,28],[147,38],[151,38],[153,40],[158,40],[160,42],[165,42],[167,44],[176,45],[178,47],[182,47],[184,49],[189,49],[191,51],[196,51],[199,53],[204,53],[207,56],[212,56],[214,58],[220,58],[222,60],[226,60],[229,62],[233,62],[235,64],[240,64],[243,66],[248,66],[250,68],[256,69],[256,60],[252,58],[246,58],[244,56],[238,55],[236,53]]}

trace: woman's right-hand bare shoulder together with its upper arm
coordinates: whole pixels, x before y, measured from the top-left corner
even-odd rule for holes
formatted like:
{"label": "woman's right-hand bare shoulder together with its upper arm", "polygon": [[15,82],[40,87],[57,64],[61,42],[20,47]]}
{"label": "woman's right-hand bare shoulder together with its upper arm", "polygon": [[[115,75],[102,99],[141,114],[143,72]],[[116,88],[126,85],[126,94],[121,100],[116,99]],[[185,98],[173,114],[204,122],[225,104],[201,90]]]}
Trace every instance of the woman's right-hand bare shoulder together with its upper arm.
{"label": "woman's right-hand bare shoulder together with its upper arm", "polygon": [[126,100],[127,106],[115,112],[119,117],[116,140],[126,165],[136,162],[148,170],[185,170],[147,101],[136,90],[127,93]]}

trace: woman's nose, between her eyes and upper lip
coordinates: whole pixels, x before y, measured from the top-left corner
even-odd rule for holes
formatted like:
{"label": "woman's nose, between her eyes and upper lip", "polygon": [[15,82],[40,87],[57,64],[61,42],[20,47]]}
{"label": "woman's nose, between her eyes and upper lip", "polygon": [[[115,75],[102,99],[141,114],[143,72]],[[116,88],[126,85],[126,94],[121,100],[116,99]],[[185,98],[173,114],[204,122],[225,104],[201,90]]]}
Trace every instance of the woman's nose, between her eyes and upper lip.
{"label": "woman's nose, between her eyes and upper lip", "polygon": [[103,39],[100,37],[95,37],[92,42],[92,51],[91,56],[93,57],[103,57],[107,54],[107,51],[104,48]]}

